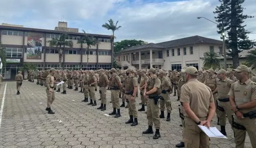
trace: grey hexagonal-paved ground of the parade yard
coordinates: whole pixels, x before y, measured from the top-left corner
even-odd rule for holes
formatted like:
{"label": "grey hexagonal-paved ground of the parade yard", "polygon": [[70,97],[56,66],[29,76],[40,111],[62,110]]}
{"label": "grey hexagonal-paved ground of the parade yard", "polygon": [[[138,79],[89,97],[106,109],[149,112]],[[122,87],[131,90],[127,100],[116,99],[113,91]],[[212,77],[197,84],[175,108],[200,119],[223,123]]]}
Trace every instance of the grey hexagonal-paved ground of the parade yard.
{"label": "grey hexagonal-paved ground of the parade yard", "polygon": [[[110,91],[107,91],[107,110],[100,111],[81,102],[82,93],[67,89],[67,94],[56,94],[52,104],[55,114],[50,115],[45,111],[45,87],[25,81],[21,94],[16,95],[16,82],[3,82],[0,101],[5,83],[7,91],[0,127],[0,148],[175,148],[175,144],[182,140],[178,101],[173,94],[171,122],[161,119],[161,138],[153,140],[153,134],[142,134],[147,129],[145,112],[138,113],[139,125],[135,127],[124,123],[129,119],[128,108],[121,108],[122,117],[117,119],[104,115],[112,111]],[[96,96],[99,107],[99,92]],[[139,109],[140,97],[136,102]],[[216,118],[212,126],[216,126]],[[212,138],[210,148],[235,147],[228,123],[226,128],[228,139]],[[251,147],[248,136],[245,145]]]}

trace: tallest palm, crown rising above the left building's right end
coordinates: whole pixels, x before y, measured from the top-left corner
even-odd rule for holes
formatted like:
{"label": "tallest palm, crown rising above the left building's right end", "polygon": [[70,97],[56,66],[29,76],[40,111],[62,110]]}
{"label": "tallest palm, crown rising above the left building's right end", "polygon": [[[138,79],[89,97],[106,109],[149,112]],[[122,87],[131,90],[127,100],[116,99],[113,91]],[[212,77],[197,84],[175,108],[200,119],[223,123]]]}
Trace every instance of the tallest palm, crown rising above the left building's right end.
{"label": "tallest palm, crown rising above the left building's right end", "polygon": [[107,30],[111,30],[112,31],[112,35],[111,35],[111,43],[112,43],[112,47],[111,47],[111,66],[113,67],[113,57],[114,57],[114,32],[119,30],[119,28],[121,28],[122,26],[117,26],[117,23],[119,21],[116,21],[116,24],[114,23],[114,21],[112,19],[108,20],[109,23],[105,23],[102,25],[103,28],[106,28]]}

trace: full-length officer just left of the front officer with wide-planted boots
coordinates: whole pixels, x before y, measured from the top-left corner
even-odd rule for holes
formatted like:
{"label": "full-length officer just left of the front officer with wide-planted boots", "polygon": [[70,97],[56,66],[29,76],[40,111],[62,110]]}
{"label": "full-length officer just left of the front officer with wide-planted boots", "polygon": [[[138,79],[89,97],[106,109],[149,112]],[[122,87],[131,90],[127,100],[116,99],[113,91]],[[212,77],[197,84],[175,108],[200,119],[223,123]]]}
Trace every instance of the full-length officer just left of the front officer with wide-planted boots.
{"label": "full-length officer just left of the front officer with wide-planted boots", "polygon": [[[137,88],[138,88],[138,80],[137,78],[133,75],[133,70],[131,68],[128,68],[126,70],[126,92],[125,92],[125,97],[128,99],[129,102],[129,115],[130,119],[126,122],[126,124],[132,123],[131,126],[138,125],[138,120],[137,120],[137,110],[136,110],[136,103],[135,103],[135,96],[137,93]],[[133,120],[134,117],[134,120]]]}

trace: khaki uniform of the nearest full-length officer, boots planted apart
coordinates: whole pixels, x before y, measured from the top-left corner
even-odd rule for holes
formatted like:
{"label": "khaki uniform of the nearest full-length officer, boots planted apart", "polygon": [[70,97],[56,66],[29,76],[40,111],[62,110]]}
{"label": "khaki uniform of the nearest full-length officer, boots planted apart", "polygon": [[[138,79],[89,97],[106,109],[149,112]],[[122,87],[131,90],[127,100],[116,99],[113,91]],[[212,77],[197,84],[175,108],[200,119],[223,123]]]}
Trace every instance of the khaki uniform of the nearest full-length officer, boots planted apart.
{"label": "khaki uniform of the nearest full-length officer, boots planted apart", "polygon": [[157,91],[154,94],[149,94],[149,100],[147,103],[147,124],[153,126],[155,129],[160,129],[161,122],[159,117],[159,100],[157,104],[154,103],[154,99],[151,96],[158,96],[161,94],[161,80],[159,78],[149,78],[147,81],[147,91],[150,91],[154,87],[157,88]]}

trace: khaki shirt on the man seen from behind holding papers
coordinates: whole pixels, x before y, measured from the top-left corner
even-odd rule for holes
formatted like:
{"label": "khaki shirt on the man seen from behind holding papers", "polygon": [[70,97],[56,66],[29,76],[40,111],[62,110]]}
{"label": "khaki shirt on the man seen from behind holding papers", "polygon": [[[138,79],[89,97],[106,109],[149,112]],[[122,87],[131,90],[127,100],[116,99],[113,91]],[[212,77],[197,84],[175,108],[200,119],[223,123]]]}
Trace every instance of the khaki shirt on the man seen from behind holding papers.
{"label": "khaki shirt on the man seen from behind holding papers", "polygon": [[[181,87],[180,102],[190,103],[197,117],[207,117],[209,105],[213,101],[211,89],[197,79],[191,79]],[[188,117],[187,113],[184,116]]]}

